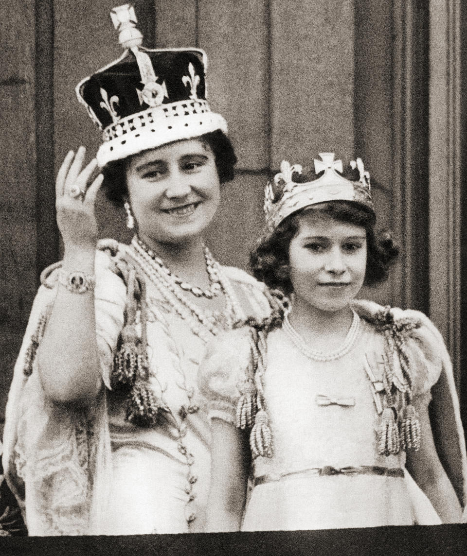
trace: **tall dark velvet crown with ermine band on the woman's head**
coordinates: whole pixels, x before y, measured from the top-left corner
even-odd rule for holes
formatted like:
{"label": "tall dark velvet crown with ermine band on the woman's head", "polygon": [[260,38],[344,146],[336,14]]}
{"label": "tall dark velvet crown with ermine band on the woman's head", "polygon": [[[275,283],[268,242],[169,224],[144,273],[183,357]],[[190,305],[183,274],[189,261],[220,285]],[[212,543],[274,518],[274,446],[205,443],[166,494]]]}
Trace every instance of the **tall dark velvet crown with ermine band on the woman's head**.
{"label": "tall dark velvet crown with ermine band on the woman's head", "polygon": [[124,53],[76,86],[78,101],[102,131],[99,166],[204,133],[227,133],[224,118],[206,100],[205,52],[141,46],[130,4],[110,16]]}

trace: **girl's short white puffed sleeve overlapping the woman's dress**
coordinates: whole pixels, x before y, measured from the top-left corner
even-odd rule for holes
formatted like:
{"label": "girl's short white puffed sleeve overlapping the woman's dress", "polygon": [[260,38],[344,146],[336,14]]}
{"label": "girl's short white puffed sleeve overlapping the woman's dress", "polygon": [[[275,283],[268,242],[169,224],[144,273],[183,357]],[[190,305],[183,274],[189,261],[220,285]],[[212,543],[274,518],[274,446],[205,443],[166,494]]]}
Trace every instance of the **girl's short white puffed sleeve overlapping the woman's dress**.
{"label": "girl's short white puffed sleeve overlapping the woman's dress", "polygon": [[250,357],[247,327],[224,332],[208,345],[198,373],[198,386],[207,400],[210,419],[235,423],[238,385],[246,380]]}

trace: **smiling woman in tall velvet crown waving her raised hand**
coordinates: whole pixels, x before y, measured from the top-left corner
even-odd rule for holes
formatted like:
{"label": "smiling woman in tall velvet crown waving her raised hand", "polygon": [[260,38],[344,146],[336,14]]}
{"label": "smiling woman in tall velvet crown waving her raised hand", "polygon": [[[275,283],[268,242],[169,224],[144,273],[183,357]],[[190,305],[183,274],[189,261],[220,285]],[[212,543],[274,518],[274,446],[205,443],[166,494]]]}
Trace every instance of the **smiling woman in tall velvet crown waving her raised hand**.
{"label": "smiling woman in tall velvet crown waving her raised hand", "polygon": [[[132,9],[111,15],[125,52],[77,87],[104,143],[58,172],[65,255],[43,273],[7,406],[4,465],[35,535],[200,530],[198,365],[219,330],[270,312],[263,287],[203,244],[235,162],[204,98],[205,54],[142,48]],[[101,185],[137,232],[96,254]]]}

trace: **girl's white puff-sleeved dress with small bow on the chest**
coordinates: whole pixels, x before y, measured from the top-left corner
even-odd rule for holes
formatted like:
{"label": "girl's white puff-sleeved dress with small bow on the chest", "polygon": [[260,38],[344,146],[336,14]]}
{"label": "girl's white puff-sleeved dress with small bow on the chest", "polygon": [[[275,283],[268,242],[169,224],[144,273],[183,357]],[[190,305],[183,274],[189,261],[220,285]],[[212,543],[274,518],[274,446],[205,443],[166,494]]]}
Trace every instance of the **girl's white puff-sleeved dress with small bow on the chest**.
{"label": "girl's white puff-sleeved dress with small bow on the chest", "polygon": [[[405,316],[406,312],[401,315]],[[414,403],[427,405],[445,351],[428,319],[414,311],[410,316],[422,322],[412,331],[408,346],[416,365]],[[365,368],[370,364],[375,378],[381,377],[383,349],[382,335],[364,317],[348,353],[328,361],[310,359],[282,327],[269,332],[263,393],[272,457],[254,460],[254,486],[242,530],[440,523],[405,469],[405,452],[378,453],[378,413]],[[247,380],[250,353],[248,329],[234,330],[218,340],[203,364],[200,387],[210,399],[211,418],[235,423],[238,388]],[[459,424],[458,405],[456,411]],[[460,446],[456,457],[465,472],[465,446]],[[334,474],[318,475],[317,469],[327,466]],[[401,469],[404,475],[346,472],[358,466]],[[460,494],[464,495],[462,487]]]}

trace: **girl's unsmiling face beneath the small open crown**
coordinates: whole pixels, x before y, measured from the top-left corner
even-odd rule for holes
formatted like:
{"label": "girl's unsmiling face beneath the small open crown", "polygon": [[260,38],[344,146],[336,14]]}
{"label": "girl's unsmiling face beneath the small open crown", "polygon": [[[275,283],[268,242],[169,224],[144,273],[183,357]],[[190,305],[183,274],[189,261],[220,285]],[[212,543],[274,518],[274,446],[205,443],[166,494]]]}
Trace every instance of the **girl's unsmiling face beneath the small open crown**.
{"label": "girl's unsmiling face beneath the small open crown", "polygon": [[345,309],[360,291],[366,270],[366,231],[311,210],[299,217],[289,246],[297,301],[319,311]]}

